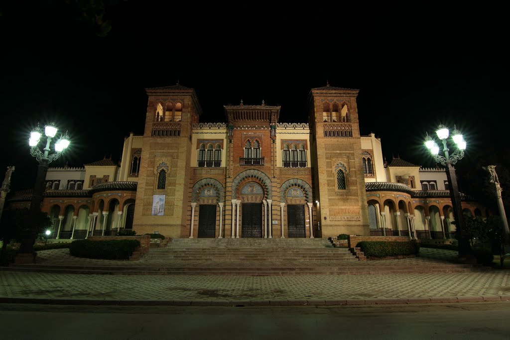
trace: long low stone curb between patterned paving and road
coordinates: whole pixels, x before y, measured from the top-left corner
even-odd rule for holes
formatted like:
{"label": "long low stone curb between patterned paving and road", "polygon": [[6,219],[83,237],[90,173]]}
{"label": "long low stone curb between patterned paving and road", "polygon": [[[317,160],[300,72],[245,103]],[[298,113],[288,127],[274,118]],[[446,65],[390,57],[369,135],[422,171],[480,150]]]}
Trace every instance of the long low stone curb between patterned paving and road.
{"label": "long low stone curb between patterned paving and road", "polygon": [[0,303],[26,303],[49,305],[104,305],[104,306],[226,306],[226,307],[263,307],[263,306],[356,306],[412,303],[452,303],[452,302],[495,302],[510,301],[510,295],[482,295],[431,298],[374,298],[345,300],[263,300],[263,301],[225,301],[225,300],[94,300],[94,299],[53,299],[53,298],[17,298],[0,297]]}

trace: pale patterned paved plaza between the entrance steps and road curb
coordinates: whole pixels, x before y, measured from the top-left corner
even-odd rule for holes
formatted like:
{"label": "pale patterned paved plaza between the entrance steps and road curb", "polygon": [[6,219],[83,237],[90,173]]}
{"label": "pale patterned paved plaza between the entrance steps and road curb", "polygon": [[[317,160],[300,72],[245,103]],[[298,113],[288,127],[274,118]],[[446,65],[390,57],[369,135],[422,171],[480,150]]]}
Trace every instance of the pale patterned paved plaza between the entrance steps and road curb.
{"label": "pale patterned paved plaza between the entrance steps and road curb", "polygon": [[[455,256],[454,251],[422,248],[416,258],[346,261],[346,266],[453,266]],[[44,265],[158,265],[143,259],[77,259],[67,249],[41,251],[38,259]],[[407,274],[381,270],[364,275],[97,275],[7,269],[0,271],[0,302],[254,306],[507,301],[509,274],[486,269]]]}

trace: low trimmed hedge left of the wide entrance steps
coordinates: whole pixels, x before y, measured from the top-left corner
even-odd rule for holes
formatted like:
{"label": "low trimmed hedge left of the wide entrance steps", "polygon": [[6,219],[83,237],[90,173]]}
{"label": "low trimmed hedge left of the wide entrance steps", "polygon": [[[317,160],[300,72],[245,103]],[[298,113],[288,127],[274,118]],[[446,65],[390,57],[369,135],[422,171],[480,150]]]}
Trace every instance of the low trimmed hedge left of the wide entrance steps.
{"label": "low trimmed hedge left of the wide entrance steps", "polygon": [[138,240],[73,241],[69,246],[72,256],[104,259],[129,259],[140,246]]}

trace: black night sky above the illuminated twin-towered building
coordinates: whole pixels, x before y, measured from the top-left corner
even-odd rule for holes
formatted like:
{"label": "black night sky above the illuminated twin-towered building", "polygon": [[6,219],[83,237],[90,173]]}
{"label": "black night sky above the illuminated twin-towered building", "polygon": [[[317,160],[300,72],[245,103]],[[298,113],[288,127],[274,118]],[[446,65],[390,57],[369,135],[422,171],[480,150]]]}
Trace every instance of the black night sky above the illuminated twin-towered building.
{"label": "black night sky above the illuminated twin-towered building", "polygon": [[435,166],[423,138],[439,123],[464,133],[464,167],[487,165],[476,165],[482,153],[508,159],[501,10],[118,0],[105,1],[111,31],[101,37],[88,19],[100,11],[64,1],[12,3],[0,5],[0,169],[16,166],[12,190],[33,186],[28,138],[38,121],[55,121],[71,137],[50,166],[105,155],[117,162],[124,137],[143,132],[144,89],[177,81],[195,89],[202,122],[224,121],[223,105],[241,99],[281,105],[280,122],[307,122],[310,89],[328,81],[360,90],[361,134],[381,138],[388,161],[399,155]]}

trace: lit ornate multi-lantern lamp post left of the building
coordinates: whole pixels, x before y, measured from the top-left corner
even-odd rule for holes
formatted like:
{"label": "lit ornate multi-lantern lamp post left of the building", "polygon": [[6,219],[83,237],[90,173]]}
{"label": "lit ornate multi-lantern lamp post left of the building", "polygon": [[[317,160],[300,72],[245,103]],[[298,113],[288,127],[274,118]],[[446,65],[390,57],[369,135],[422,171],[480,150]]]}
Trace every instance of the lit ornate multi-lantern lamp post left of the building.
{"label": "lit ornate multi-lantern lamp post left of the building", "polygon": [[36,160],[39,162],[39,166],[37,168],[37,175],[32,192],[32,201],[30,202],[29,214],[31,216],[31,222],[30,225],[26,226],[21,231],[21,244],[19,246],[19,251],[16,254],[15,263],[33,263],[35,260],[34,242],[36,239],[39,214],[41,212],[42,194],[44,192],[44,181],[46,179],[48,165],[49,163],[57,160],[70,143],[67,132],[65,135],[61,134],[60,138],[57,140],[57,142],[55,142],[54,145],[55,153],[49,154],[51,151],[49,148],[50,143],[57,135],[57,131],[58,128],[54,123],[50,123],[44,126],[44,136],[46,137],[46,143],[42,151],[37,146],[41,140],[41,137],[44,138],[39,124],[37,124],[37,127],[30,133],[30,154],[36,158]]}

